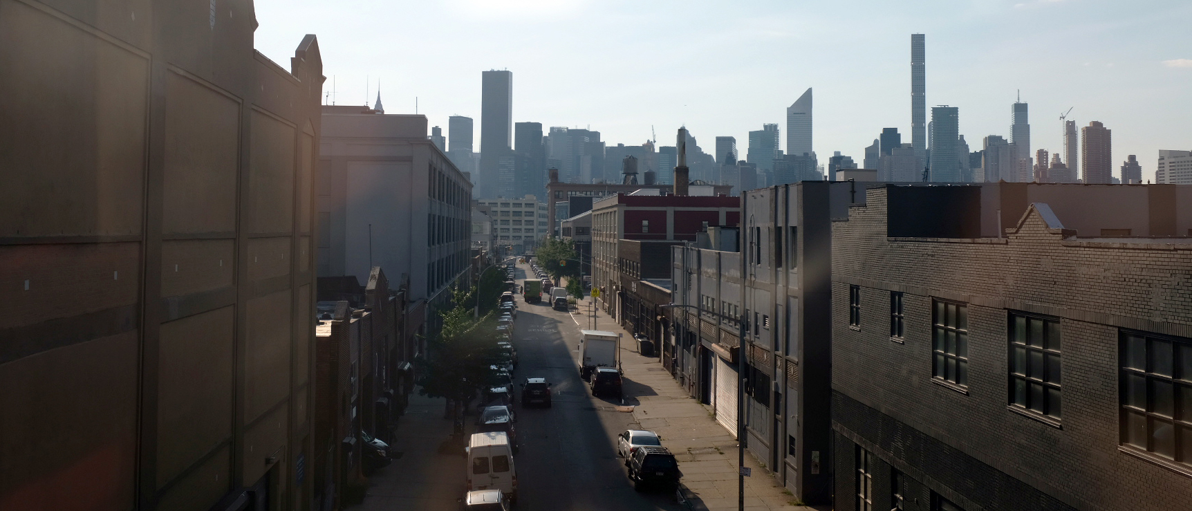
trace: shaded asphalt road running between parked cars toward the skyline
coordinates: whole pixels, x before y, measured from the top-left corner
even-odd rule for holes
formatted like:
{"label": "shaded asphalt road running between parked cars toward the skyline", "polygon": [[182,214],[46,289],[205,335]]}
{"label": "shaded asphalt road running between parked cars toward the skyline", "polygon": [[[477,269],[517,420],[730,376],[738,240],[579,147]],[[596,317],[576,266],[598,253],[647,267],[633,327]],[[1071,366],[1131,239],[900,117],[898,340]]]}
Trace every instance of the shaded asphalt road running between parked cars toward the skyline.
{"label": "shaded asphalt road running between parked cars toward the skyline", "polygon": [[[529,266],[519,264],[517,280]],[[633,415],[616,411],[616,398],[592,398],[576,366],[578,326],[571,314],[519,300],[515,322],[517,381],[546,378],[554,384],[553,406],[517,404],[521,451],[515,457],[519,511],[678,510],[672,494],[633,490],[616,455],[615,437],[637,428]],[[583,323],[583,317],[577,318]],[[632,403],[632,397],[627,395]]]}

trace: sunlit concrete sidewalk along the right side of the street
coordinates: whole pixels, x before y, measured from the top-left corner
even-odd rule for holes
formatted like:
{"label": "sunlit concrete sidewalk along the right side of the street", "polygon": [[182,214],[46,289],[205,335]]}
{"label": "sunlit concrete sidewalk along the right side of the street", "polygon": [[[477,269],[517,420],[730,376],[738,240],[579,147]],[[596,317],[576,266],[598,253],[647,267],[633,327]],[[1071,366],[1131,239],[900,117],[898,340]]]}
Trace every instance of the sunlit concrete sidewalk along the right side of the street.
{"label": "sunlit concrete sidewalk along the right side of the street", "polygon": [[[579,300],[572,318],[586,329],[591,297]],[[597,309],[597,330],[625,334],[621,366],[625,369],[625,404],[635,405],[633,417],[640,428],[657,432],[663,444],[675,453],[683,471],[687,498],[696,510],[737,509],[737,440],[712,417],[712,410],[689,397],[658,359],[638,354],[631,332]],[[745,509],[755,511],[800,510],[794,497],[757,462],[749,451],[745,466],[752,476],[745,478]],[[822,507],[824,510],[831,507]]]}

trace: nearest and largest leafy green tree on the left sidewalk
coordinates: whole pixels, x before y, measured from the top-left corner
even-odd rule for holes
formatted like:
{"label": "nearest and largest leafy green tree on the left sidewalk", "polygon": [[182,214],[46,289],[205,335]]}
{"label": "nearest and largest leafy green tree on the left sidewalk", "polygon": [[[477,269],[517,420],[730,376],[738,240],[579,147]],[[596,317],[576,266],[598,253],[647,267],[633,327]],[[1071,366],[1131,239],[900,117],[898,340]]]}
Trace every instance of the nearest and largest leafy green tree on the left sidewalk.
{"label": "nearest and largest leafy green tree on the left sidewalk", "polygon": [[442,329],[427,343],[418,393],[432,398],[468,401],[477,391],[497,384],[492,360],[497,356],[496,323],[491,314],[472,318],[467,304],[476,288],[457,289],[455,306],[440,312]]}

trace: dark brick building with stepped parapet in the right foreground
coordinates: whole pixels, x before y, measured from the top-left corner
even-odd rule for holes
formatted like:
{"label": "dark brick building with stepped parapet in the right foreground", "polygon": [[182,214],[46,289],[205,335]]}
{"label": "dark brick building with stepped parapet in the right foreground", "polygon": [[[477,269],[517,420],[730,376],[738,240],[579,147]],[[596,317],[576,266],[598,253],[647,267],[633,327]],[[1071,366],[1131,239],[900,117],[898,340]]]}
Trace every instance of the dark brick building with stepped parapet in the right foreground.
{"label": "dark brick building with stepped parapet in the right foreground", "polygon": [[833,224],[836,509],[1192,509],[1188,191],[994,187]]}

